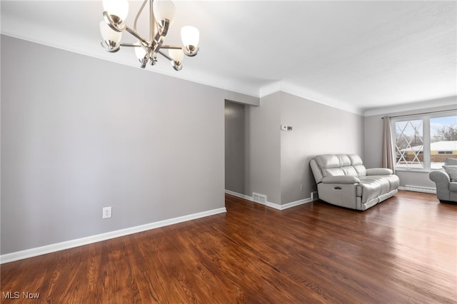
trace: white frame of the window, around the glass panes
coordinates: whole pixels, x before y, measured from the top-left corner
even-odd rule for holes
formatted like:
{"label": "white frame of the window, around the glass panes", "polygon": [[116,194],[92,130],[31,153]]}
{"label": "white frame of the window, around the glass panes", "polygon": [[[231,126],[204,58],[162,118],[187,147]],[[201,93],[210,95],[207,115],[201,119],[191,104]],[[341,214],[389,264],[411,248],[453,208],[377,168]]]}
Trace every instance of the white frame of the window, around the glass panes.
{"label": "white frame of the window, around the glass panes", "polygon": [[423,141],[423,168],[408,168],[408,167],[397,167],[396,160],[395,163],[395,170],[396,171],[408,171],[408,172],[430,172],[437,169],[431,168],[431,151],[430,151],[430,144],[431,144],[431,133],[430,133],[430,120],[432,118],[438,117],[449,117],[449,116],[457,116],[455,110],[449,111],[439,111],[434,113],[421,113],[421,114],[411,114],[411,115],[404,115],[404,116],[395,116],[391,117],[391,141],[393,146],[393,155],[396,155],[396,123],[401,121],[414,121],[421,119],[422,120],[422,141]]}

